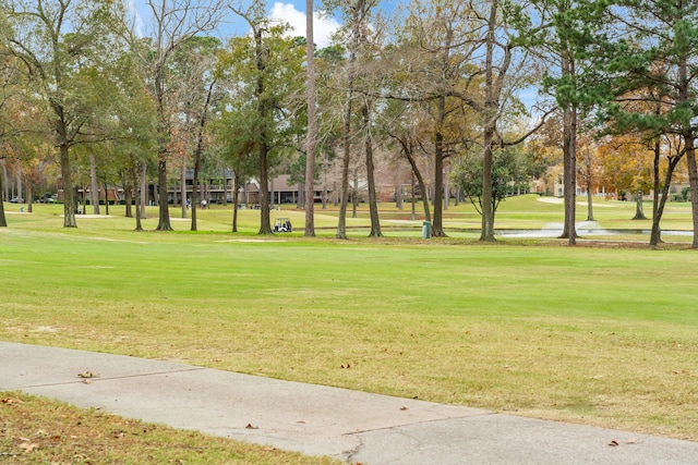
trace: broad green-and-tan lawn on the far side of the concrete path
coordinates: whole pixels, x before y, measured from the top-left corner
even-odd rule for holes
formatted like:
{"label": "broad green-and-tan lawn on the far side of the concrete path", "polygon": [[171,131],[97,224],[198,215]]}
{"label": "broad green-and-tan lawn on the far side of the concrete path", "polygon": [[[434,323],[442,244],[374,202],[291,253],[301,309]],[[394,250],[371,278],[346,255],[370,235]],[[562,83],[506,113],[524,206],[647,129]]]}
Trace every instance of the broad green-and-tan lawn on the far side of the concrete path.
{"label": "broad green-and-tan lawn on the far side of the concrete path", "polygon": [[[628,204],[594,216],[649,228],[626,220]],[[201,211],[197,233],[182,220],[136,233],[119,217],[65,230],[60,208],[36,207],[0,229],[2,340],[698,440],[698,257],[685,242],[483,245],[470,206],[446,215],[460,238],[433,241],[409,211],[386,212],[385,240],[358,229],[336,241],[333,211],[317,210],[318,238],[263,240],[255,211],[241,211],[238,234],[222,208]],[[508,199],[497,228],[561,211]],[[302,228],[302,212],[281,213]],[[365,211],[350,220],[365,228]],[[671,221],[689,230],[688,205]]]}

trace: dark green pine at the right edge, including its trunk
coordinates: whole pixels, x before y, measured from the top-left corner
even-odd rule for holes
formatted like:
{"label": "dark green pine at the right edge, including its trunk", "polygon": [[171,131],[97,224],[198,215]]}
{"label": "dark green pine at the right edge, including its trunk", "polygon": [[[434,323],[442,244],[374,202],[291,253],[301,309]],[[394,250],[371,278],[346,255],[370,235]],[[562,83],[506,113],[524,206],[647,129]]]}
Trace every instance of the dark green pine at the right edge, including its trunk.
{"label": "dark green pine at the right edge, including its trunk", "polygon": [[[698,248],[698,3],[617,0],[591,2],[609,24],[592,46],[591,79],[601,95],[599,120],[618,130],[678,136],[683,142],[691,193],[694,240]],[[647,107],[624,105],[637,93]],[[652,111],[661,107],[662,111]],[[649,110],[649,111],[648,111]]]}

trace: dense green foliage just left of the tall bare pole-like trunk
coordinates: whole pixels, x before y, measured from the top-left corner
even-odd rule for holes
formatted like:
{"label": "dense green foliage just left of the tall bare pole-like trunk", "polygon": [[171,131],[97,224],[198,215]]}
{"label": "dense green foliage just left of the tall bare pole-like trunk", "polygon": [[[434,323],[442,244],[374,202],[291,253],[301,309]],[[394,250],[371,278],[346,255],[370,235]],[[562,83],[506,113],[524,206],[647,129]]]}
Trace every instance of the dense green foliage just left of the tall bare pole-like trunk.
{"label": "dense green foliage just left of the tall bare pole-like trunk", "polygon": [[276,166],[297,151],[306,125],[301,78],[305,50],[286,35],[287,26],[260,23],[257,27],[264,29],[260,42],[251,36],[234,37],[219,53],[217,75],[227,97],[216,133],[228,159],[248,159],[265,144],[269,166]]}

